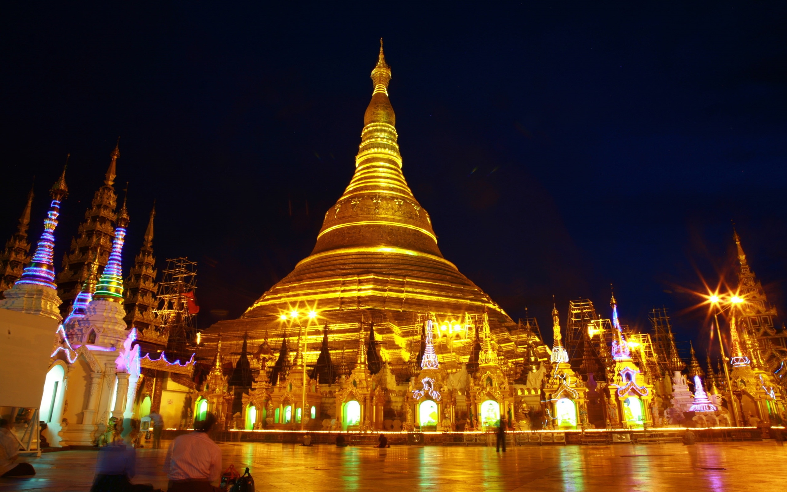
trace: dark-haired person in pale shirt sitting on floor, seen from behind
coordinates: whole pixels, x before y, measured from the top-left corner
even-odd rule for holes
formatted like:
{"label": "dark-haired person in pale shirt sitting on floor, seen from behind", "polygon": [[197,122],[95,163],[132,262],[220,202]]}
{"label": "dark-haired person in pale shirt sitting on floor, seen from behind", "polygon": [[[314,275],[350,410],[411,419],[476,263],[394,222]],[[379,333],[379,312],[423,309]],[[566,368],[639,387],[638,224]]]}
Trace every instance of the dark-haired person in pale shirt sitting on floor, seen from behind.
{"label": "dark-haired person in pale shirt sitting on floor, seen from behind", "polygon": [[208,435],[216,424],[216,416],[208,413],[205,420],[194,424],[194,432],[172,441],[164,460],[169,477],[169,492],[213,492],[211,485],[221,476],[221,449]]}

